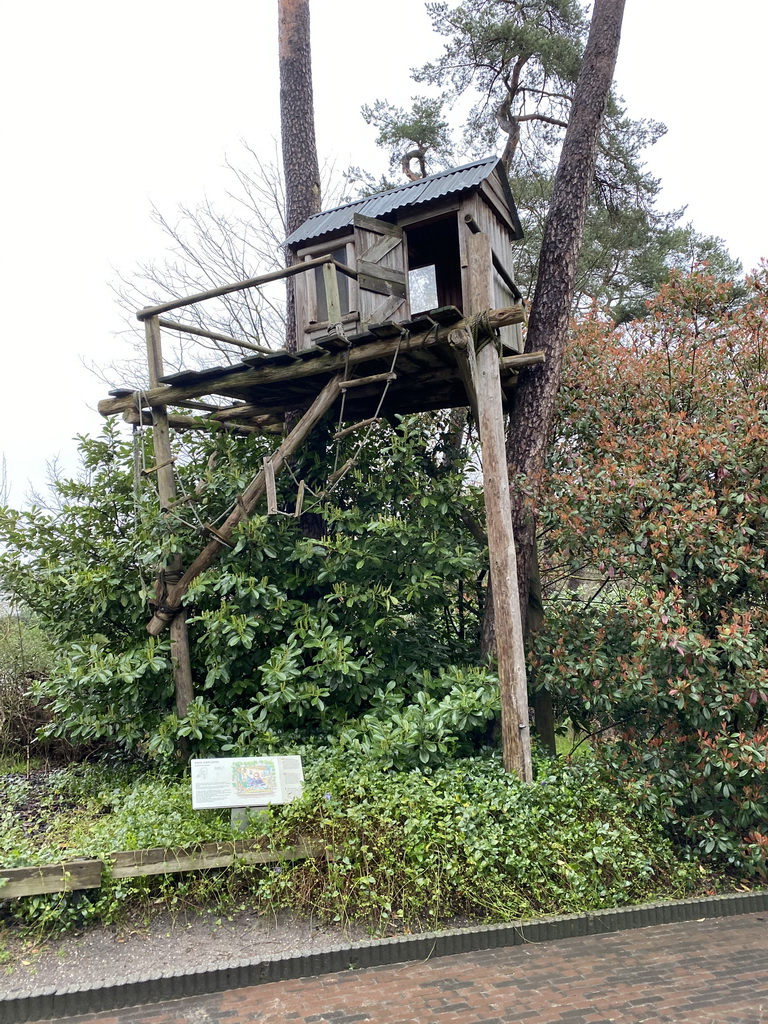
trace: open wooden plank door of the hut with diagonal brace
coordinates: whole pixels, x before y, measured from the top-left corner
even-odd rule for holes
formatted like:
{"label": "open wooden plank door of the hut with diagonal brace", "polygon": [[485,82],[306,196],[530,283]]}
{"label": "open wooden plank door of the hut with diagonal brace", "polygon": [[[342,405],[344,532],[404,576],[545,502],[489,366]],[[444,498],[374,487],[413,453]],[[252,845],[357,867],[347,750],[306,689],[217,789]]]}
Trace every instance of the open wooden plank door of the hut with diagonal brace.
{"label": "open wooden plank door of the hut with diagonal brace", "polygon": [[408,254],[402,228],[355,213],[354,248],[360,326],[407,319]]}

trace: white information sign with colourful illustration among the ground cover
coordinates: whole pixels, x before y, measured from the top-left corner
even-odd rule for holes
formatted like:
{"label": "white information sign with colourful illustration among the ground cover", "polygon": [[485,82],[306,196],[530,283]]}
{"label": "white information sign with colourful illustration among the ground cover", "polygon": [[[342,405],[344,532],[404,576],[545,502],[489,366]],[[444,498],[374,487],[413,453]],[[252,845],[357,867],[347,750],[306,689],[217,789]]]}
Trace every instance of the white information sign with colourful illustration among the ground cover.
{"label": "white information sign with colourful illustration among the ground cover", "polygon": [[300,757],[193,758],[193,807],[264,807],[301,796]]}

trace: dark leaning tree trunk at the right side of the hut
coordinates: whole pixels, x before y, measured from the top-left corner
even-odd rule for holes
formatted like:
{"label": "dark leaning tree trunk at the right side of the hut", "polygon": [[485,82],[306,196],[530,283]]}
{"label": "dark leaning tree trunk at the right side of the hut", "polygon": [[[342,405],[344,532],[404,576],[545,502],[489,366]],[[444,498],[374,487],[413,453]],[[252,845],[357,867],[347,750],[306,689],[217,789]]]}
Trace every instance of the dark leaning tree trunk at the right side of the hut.
{"label": "dark leaning tree trunk at the right side of the hut", "polygon": [[[555,175],[525,345],[527,351],[545,351],[547,361],[520,374],[509,421],[507,459],[523,616],[529,610],[530,581],[537,575],[539,490],[551,441],[577,262],[600,125],[618,54],[624,7],[625,0],[595,0],[584,63]],[[529,626],[534,626],[532,622]],[[547,703],[546,698],[542,698],[537,705],[541,708],[537,716],[540,734],[543,733],[545,745],[554,748],[551,700]]]}

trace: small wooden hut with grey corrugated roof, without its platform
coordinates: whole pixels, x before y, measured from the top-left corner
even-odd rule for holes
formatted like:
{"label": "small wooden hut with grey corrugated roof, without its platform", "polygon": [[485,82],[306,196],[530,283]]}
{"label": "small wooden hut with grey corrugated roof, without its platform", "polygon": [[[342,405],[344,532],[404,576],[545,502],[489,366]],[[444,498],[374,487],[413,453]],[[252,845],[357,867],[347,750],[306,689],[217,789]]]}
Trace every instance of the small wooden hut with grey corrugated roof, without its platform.
{"label": "small wooden hut with grey corrugated roof, without its platform", "polygon": [[[349,336],[439,307],[469,311],[467,238],[478,232],[490,240],[494,305],[519,302],[512,253],[522,228],[496,157],[310,217],[286,241],[294,261],[329,256],[340,272],[330,288],[319,266],[297,279],[299,348],[311,348],[336,323]],[[509,351],[522,350],[518,326],[502,328],[501,339]]]}

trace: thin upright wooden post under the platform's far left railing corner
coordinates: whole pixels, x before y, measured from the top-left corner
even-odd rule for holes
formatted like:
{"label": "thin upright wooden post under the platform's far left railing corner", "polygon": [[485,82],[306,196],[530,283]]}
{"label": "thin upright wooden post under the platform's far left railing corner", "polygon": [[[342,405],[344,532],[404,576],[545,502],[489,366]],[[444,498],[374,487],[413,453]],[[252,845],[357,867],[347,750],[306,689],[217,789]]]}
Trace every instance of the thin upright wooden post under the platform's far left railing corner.
{"label": "thin upright wooden post under the platform's far left railing corner", "polygon": [[[150,387],[156,388],[163,376],[163,349],[160,336],[160,319],[151,316],[145,322],[146,365],[150,370]],[[165,406],[153,407],[153,439],[155,441],[155,464],[159,466],[158,495],[163,511],[170,508],[176,499],[176,481],[173,475],[171,438],[168,428],[168,411]],[[181,556],[174,555],[166,572],[174,582],[182,572]],[[184,718],[195,696],[189,657],[189,637],[186,630],[186,611],[182,609],[171,622],[171,659],[173,662],[173,683],[176,693],[176,713]]]}

